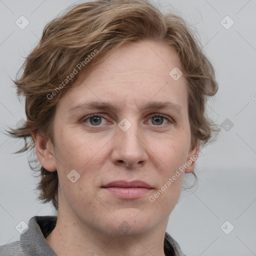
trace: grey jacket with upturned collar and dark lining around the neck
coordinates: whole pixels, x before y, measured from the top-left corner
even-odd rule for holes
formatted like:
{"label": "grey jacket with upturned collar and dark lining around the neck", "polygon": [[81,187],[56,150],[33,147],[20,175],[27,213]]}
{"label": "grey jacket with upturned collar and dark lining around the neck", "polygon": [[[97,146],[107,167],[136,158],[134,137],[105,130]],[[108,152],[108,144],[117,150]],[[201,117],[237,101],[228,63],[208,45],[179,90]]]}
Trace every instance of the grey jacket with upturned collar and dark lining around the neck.
{"label": "grey jacket with upturned collar and dark lining around the neck", "polygon": [[[56,221],[57,216],[33,216],[28,229],[20,234],[20,241],[0,246],[0,256],[56,256],[45,240]],[[164,237],[164,253],[166,256],[185,256],[168,233]]]}

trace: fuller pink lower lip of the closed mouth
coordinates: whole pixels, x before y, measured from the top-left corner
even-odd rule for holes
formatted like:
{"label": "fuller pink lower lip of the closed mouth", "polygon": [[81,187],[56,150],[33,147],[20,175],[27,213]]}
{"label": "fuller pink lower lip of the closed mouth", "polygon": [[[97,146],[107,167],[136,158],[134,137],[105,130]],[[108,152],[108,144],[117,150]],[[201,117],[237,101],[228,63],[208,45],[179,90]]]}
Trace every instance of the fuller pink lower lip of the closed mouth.
{"label": "fuller pink lower lip of the closed mouth", "polygon": [[146,187],[105,187],[112,195],[123,199],[135,199],[148,193],[151,189]]}

